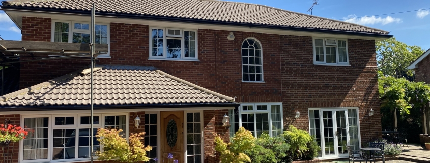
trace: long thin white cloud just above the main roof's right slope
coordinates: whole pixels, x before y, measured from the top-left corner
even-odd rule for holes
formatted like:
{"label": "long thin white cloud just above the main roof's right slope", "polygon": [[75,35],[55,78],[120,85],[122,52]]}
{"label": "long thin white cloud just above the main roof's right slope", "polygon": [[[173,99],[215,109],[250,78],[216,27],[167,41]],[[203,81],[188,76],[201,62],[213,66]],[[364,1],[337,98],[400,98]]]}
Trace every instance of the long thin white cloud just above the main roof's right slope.
{"label": "long thin white cloud just above the main roof's right slope", "polygon": [[382,25],[386,25],[389,23],[401,23],[402,19],[400,18],[393,18],[391,16],[387,16],[385,18],[383,17],[375,17],[375,16],[364,16],[361,18],[357,18],[356,15],[348,15],[348,17],[343,17],[343,21],[346,22],[350,22],[350,23],[355,23],[355,24],[360,24],[360,25],[366,25],[366,24],[382,24]]}

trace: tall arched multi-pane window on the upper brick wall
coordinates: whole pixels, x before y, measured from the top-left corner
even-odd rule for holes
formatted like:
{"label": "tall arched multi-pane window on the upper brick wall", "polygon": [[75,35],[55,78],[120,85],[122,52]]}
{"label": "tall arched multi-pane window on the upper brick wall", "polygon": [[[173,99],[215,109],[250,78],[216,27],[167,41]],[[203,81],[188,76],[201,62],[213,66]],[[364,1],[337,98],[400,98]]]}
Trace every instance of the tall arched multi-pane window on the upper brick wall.
{"label": "tall arched multi-pane window on the upper brick wall", "polygon": [[255,38],[242,43],[242,81],[263,81],[262,47]]}

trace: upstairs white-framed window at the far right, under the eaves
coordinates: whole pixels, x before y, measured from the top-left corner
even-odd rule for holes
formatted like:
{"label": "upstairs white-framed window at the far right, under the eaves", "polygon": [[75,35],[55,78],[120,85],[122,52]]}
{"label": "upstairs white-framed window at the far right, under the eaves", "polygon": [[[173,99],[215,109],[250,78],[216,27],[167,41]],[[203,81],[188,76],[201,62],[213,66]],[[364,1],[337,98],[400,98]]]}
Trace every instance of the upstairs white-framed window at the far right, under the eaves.
{"label": "upstairs white-framed window at the far right, under the eaves", "polygon": [[349,64],[347,40],[314,38],[313,54],[314,64]]}

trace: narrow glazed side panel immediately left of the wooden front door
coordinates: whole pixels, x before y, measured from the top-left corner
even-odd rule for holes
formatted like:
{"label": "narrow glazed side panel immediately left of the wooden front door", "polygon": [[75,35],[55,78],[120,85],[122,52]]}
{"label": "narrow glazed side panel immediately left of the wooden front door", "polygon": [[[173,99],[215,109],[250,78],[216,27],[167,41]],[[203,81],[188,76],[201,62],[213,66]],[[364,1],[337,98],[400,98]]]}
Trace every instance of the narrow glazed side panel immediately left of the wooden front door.
{"label": "narrow glazed side panel immediately left of the wooden front door", "polygon": [[[145,112],[146,113],[146,112]],[[145,146],[151,146],[152,150],[147,152],[148,158],[150,158],[149,162],[157,162],[154,158],[158,158],[157,152],[157,124],[158,124],[158,116],[157,113],[145,114]]]}

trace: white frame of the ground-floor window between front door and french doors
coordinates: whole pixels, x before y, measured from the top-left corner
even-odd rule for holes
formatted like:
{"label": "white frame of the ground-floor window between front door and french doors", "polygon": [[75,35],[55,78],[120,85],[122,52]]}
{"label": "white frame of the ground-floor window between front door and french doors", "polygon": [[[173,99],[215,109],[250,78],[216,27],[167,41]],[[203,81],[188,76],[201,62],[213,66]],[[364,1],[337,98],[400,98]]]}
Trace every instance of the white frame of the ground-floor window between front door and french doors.
{"label": "white frame of the ground-floor window between front door and french doors", "polygon": [[[257,110],[257,105],[266,105],[267,110]],[[281,126],[283,125],[283,109],[282,103],[241,103],[238,109],[238,122],[239,127],[242,127],[242,114],[254,114],[254,137],[257,137],[257,124],[256,124],[256,114],[259,113],[267,113],[269,118],[269,136],[273,137],[273,125],[272,125],[272,110],[271,106],[279,105],[280,106],[280,114],[281,114]],[[253,110],[242,110],[242,106],[253,106]],[[281,128],[281,133],[283,132],[283,127]]]}

